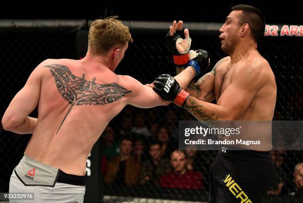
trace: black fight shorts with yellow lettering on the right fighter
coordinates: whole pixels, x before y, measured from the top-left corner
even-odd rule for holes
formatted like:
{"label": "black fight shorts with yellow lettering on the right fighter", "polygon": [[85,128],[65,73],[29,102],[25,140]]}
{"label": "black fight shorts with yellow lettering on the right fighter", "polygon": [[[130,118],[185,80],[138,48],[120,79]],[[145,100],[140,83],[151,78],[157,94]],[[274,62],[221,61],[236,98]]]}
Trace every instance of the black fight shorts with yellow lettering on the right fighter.
{"label": "black fight shorts with yellow lettering on the right fighter", "polygon": [[209,169],[209,203],[260,203],[273,172],[270,152],[219,151]]}

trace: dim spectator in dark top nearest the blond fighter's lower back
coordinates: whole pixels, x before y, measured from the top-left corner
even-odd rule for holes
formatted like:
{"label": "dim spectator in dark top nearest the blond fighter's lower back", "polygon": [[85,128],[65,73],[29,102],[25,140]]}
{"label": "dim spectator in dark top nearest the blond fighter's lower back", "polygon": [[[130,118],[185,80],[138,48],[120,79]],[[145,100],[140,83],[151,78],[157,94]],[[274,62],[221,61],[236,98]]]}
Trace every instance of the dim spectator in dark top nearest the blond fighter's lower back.
{"label": "dim spectator in dark top nearest the blond fighter's lower back", "polygon": [[115,139],[114,130],[107,125],[101,135],[101,153],[107,161],[110,161],[119,154],[120,141]]}

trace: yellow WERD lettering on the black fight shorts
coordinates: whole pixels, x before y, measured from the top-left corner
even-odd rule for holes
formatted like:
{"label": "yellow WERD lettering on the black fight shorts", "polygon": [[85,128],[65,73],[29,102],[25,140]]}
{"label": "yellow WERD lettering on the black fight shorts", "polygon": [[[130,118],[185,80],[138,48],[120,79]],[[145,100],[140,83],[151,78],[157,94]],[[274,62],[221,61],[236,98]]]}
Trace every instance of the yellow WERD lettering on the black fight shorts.
{"label": "yellow WERD lettering on the black fight shorts", "polygon": [[222,180],[225,183],[226,187],[228,187],[229,191],[238,199],[241,199],[241,203],[252,203],[249,197],[245,194],[245,192],[240,188],[240,186],[233,180],[230,174],[227,174],[225,178]]}

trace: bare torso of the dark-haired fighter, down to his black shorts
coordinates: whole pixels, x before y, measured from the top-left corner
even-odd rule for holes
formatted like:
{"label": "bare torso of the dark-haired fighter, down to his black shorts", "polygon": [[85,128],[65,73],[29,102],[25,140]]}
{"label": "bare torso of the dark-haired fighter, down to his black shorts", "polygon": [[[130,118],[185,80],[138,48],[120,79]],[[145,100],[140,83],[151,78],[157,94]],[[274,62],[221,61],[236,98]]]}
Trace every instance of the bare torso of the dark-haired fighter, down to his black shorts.
{"label": "bare torso of the dark-haired fighter, down to his black shorts", "polygon": [[[270,121],[273,119],[277,87],[274,74],[268,62],[262,56],[255,53],[250,55],[247,59],[241,60],[235,64],[231,63],[230,57],[224,58],[222,63],[220,63],[215,69],[215,98],[218,101],[223,92],[232,84],[233,80],[235,80],[235,77],[241,77],[242,74],[237,71],[245,71],[245,66],[248,63],[259,67],[260,78],[255,82],[259,82],[260,84],[258,85],[258,89],[256,89],[256,93],[248,107],[243,111],[242,115],[235,120],[250,122],[238,122],[239,126],[242,127],[240,135],[230,137],[224,136],[223,138],[221,137],[221,139],[234,141],[236,139],[260,141],[259,145],[247,146],[238,144],[236,146],[238,148],[240,147],[256,151],[270,151],[272,147]],[[239,97],[237,94],[233,96],[234,98]]]}

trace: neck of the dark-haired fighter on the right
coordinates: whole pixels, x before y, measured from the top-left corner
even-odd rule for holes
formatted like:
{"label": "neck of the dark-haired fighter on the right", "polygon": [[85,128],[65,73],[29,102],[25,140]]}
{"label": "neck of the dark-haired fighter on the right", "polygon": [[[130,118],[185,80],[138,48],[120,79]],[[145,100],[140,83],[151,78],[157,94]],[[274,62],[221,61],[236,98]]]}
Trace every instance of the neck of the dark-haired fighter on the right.
{"label": "neck of the dark-haired fighter on the right", "polygon": [[255,51],[257,51],[256,43],[239,44],[235,50],[229,54],[231,63],[233,64],[245,60]]}

